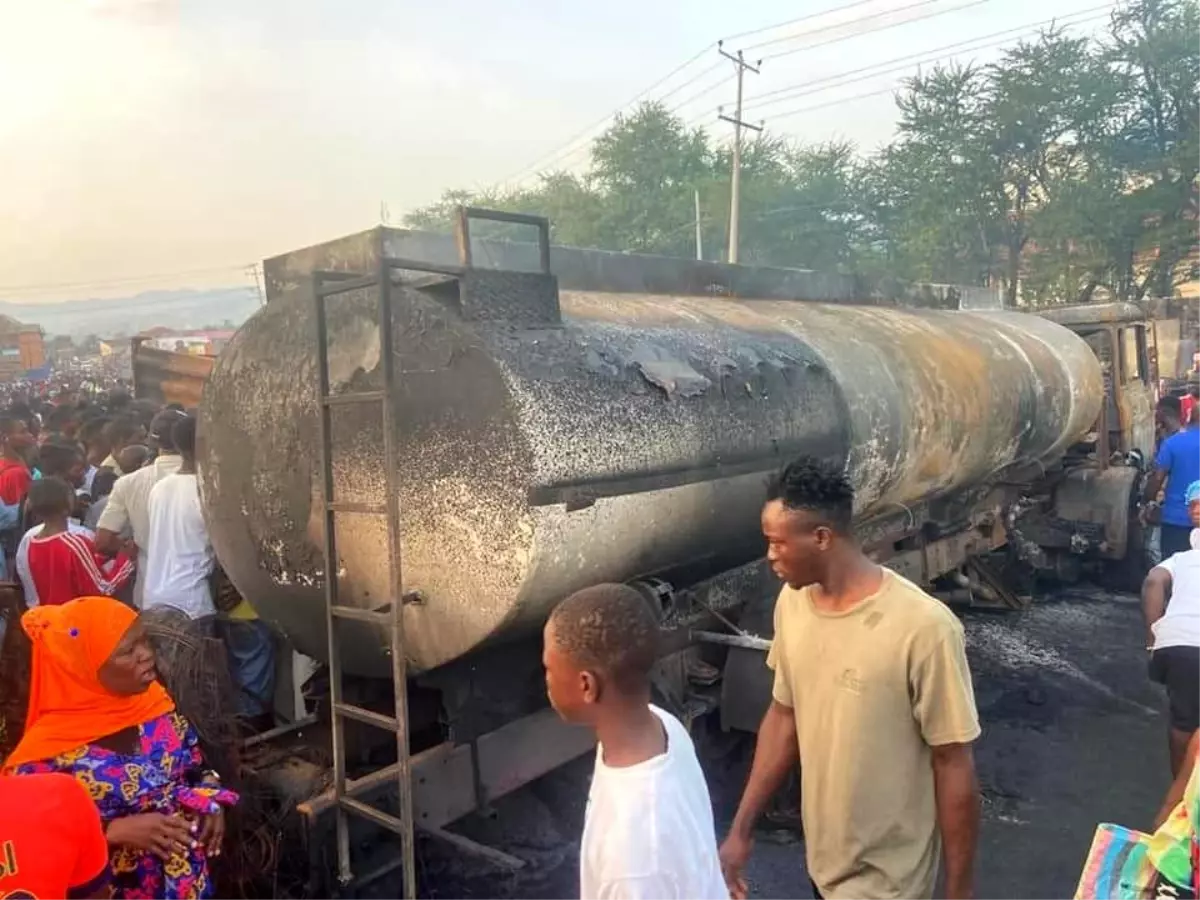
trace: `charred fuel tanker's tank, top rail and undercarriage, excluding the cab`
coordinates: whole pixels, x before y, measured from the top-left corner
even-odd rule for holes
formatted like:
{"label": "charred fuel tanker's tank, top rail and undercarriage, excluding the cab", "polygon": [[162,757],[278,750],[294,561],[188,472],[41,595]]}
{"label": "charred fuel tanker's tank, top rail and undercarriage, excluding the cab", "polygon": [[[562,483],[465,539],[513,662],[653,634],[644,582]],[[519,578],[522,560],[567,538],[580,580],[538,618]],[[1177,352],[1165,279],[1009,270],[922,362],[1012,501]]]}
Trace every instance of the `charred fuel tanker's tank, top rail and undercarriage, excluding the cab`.
{"label": "charred fuel tanker's tank, top rail and undercarriage, excluding the cab", "polygon": [[[479,217],[538,241],[479,240]],[[986,292],[551,247],[545,220],[474,210],[457,240],[379,228],[264,276],[204,389],[200,484],[259,614],[323,662],[334,622],[335,767],[361,776],[300,804],[314,829],[349,810],[402,830],[410,804],[517,864],[445,827],[589,748],[546,709],[540,628],[598,582],[660,614],[661,702],[756,727],[778,592],[758,516],[797,455],[845,462],[877,559],[980,601],[1021,602],[996,560],[1074,575],[1135,551],[1112,379]],[[362,774],[370,730],[337,722],[394,714],[412,757]],[[362,805],[397,784],[392,818]]]}

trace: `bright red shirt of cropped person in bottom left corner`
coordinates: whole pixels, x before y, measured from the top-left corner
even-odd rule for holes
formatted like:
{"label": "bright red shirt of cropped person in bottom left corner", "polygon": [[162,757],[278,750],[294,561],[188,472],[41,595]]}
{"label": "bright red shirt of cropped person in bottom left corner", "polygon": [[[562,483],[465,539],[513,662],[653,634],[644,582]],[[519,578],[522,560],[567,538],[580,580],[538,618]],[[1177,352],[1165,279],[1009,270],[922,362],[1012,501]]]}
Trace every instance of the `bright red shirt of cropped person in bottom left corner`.
{"label": "bright red shirt of cropped person in bottom left corner", "polygon": [[0,898],[107,900],[108,841],[71,775],[0,775]]}

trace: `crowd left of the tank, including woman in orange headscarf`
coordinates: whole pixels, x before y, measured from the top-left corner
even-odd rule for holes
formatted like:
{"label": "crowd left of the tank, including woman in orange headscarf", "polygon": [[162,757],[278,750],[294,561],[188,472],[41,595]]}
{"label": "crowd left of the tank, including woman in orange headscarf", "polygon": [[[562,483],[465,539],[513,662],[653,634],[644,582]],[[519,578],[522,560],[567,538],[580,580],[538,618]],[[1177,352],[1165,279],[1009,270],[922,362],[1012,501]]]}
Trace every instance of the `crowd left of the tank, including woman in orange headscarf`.
{"label": "crowd left of the tank, including woman in orange headscarf", "polygon": [[[19,740],[0,734],[0,896],[212,896],[209,863],[238,794],[176,709],[170,666],[180,647],[220,648],[204,659],[227,661],[252,732],[272,724],[275,646],[216,564],[196,418],[124,390],[10,397],[5,580],[20,600],[0,646],[12,658],[26,642],[29,678],[23,720],[5,722]],[[77,839],[49,853],[40,823]]]}

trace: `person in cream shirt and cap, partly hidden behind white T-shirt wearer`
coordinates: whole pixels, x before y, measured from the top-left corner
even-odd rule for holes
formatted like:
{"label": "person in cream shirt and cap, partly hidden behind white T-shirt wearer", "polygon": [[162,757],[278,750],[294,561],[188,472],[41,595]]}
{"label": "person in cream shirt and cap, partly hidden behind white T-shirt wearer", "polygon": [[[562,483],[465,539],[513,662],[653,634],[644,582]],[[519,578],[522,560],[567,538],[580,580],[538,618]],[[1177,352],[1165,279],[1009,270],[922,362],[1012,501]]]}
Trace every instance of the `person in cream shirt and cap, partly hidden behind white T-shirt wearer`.
{"label": "person in cream shirt and cap, partly hidden behind white T-shirt wearer", "polygon": [[102,553],[115,556],[132,536],[138,548],[138,576],[133,583],[133,605],[144,608],[145,577],[150,546],[150,490],[168,475],[174,475],[182,464],[182,457],[172,438],[172,428],[184,413],[166,409],[150,422],[150,440],[158,449],[154,463],[128,475],[122,475],[113,485],[108,503],[96,521],[96,546]]}

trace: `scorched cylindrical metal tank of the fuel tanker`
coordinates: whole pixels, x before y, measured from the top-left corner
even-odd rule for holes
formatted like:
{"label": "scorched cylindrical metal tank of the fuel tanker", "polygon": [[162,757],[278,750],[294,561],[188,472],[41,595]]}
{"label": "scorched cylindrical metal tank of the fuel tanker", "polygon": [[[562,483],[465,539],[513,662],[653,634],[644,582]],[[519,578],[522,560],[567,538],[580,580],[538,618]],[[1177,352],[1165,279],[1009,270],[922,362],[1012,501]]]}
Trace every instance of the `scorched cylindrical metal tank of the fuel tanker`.
{"label": "scorched cylindrical metal tank of the fuel tanker", "polygon": [[[1099,365],[1021,313],[780,300],[560,295],[560,323],[468,320],[394,288],[403,587],[428,670],[540,626],[572,590],[762,553],[766,473],[846,460],[858,512],[1061,456],[1092,426]],[[330,301],[335,392],[380,386],[377,301]],[[314,316],[271,302],[205,389],[202,491],[217,556],[260,614],[325,655]],[[337,499],[379,502],[378,409],[334,408]],[[391,596],[382,518],[341,516],[343,602]],[[386,674],[385,636],[349,635]]]}

